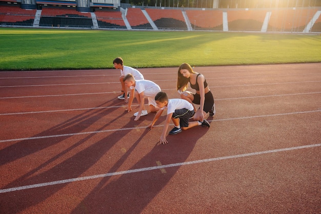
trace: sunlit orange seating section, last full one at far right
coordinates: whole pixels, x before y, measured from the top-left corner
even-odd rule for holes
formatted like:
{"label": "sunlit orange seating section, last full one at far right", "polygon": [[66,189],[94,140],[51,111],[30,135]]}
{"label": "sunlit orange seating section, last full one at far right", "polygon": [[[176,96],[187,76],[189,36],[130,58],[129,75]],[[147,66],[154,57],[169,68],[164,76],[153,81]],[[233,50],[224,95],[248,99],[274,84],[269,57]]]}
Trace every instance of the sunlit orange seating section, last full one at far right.
{"label": "sunlit orange seating section, last full one at far right", "polygon": [[303,32],[316,9],[275,9],[272,10],[268,31]]}

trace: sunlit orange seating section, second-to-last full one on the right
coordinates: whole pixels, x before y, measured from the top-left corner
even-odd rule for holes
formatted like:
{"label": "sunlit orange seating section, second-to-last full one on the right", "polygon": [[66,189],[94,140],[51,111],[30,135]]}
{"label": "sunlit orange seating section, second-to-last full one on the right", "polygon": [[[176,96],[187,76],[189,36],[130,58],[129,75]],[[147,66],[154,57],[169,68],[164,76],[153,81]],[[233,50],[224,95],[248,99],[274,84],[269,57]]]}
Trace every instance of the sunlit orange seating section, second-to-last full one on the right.
{"label": "sunlit orange seating section, second-to-last full one on the right", "polygon": [[229,10],[227,11],[229,31],[260,31],[266,10]]}

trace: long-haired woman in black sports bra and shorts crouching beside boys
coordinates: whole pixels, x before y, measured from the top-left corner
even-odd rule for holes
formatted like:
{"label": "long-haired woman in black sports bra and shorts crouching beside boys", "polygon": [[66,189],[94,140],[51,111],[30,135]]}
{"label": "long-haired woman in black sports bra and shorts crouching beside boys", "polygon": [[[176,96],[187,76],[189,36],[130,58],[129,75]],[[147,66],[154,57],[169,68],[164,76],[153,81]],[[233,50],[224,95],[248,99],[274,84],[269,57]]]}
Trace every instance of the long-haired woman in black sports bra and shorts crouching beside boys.
{"label": "long-haired woman in black sports bra and shorts crouching beside boys", "polygon": [[[190,83],[191,88],[196,90],[196,94],[186,91],[188,82]],[[183,63],[178,68],[177,92],[182,99],[185,99],[192,104],[199,104],[198,111],[193,104],[195,111],[194,120],[203,121],[204,116],[208,112],[210,113],[210,116],[215,114],[213,94],[208,87],[205,77],[203,74],[194,72],[188,63]]]}

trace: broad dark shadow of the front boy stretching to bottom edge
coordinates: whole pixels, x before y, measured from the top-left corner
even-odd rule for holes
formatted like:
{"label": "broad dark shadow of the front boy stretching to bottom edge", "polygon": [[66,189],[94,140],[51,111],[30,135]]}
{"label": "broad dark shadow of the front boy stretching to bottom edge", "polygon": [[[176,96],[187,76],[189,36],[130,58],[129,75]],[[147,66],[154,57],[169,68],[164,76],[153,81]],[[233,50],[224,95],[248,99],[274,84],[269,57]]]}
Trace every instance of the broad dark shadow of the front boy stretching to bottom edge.
{"label": "broad dark shadow of the front boy stretching to bottom edge", "polygon": [[[166,165],[185,162],[197,140],[208,130],[200,128],[197,132],[189,130],[175,136],[167,136],[168,144],[157,143],[147,155],[128,170],[157,166],[157,163]],[[143,133],[109,173],[117,172],[117,169],[147,133],[148,131]],[[150,163],[154,165],[147,165]],[[123,174],[116,180],[105,177],[72,213],[140,213],[173,178],[179,167]]]}

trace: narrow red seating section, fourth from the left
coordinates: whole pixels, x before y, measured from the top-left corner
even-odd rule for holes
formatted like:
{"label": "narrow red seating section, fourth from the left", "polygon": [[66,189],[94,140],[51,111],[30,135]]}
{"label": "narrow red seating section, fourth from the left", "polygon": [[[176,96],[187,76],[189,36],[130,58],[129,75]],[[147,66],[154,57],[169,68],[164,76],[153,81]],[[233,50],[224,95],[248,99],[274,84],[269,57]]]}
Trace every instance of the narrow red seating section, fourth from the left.
{"label": "narrow red seating section, fourth from the left", "polygon": [[126,17],[132,29],[153,29],[140,8],[128,8]]}

